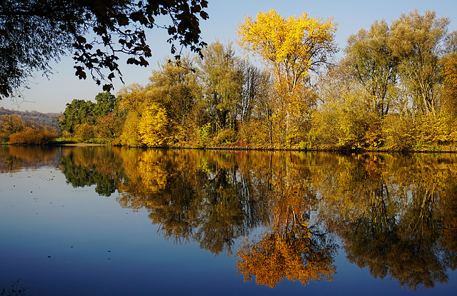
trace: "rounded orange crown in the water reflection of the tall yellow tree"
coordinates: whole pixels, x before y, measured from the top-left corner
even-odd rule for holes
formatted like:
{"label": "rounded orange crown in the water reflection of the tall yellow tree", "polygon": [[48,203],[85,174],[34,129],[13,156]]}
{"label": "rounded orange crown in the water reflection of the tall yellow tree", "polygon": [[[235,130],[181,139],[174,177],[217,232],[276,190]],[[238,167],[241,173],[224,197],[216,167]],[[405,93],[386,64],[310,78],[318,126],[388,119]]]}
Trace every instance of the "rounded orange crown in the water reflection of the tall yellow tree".
{"label": "rounded orange crown in the water reflection of the tall yellow tree", "polygon": [[336,273],[333,252],[325,234],[297,221],[286,232],[266,233],[258,242],[246,240],[237,252],[236,267],[245,281],[255,275],[258,285],[275,287],[283,278],[306,285],[310,280],[331,280]]}

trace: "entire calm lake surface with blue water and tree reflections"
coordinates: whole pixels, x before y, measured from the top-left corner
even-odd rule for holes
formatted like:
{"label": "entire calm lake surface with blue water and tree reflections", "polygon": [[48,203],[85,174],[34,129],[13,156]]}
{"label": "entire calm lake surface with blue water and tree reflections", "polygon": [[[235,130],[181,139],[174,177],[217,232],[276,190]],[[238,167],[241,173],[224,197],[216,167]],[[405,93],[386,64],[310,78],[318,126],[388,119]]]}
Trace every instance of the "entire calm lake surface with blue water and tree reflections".
{"label": "entire calm lake surface with blue water and tree reflections", "polygon": [[457,155],[0,146],[0,295],[457,295]]}

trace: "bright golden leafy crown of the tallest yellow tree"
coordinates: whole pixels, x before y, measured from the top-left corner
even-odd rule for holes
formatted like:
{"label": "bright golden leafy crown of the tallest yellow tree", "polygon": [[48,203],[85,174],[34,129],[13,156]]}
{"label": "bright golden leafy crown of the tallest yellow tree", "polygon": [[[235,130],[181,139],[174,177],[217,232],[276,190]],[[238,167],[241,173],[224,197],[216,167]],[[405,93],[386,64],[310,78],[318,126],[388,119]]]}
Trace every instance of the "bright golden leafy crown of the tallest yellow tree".
{"label": "bright golden leafy crown of the tallest yellow tree", "polygon": [[304,77],[313,63],[325,61],[326,53],[336,51],[335,31],[332,19],[314,19],[306,13],[285,19],[271,9],[258,13],[255,21],[246,16],[237,33],[238,45],[245,51],[261,56],[274,68]]}

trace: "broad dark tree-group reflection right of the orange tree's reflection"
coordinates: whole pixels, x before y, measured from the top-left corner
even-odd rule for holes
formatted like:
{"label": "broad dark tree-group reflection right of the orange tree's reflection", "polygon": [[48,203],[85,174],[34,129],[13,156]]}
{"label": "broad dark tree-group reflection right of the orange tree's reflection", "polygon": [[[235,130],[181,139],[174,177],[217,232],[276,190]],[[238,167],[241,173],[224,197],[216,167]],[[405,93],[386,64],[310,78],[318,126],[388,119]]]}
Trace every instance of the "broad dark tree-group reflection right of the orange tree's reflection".
{"label": "broad dark tree-group reflection right of the orange tree's reflection", "polygon": [[412,290],[447,282],[457,259],[457,237],[448,235],[456,229],[457,167],[449,158],[358,155],[327,172],[318,183],[321,215],[350,262]]}

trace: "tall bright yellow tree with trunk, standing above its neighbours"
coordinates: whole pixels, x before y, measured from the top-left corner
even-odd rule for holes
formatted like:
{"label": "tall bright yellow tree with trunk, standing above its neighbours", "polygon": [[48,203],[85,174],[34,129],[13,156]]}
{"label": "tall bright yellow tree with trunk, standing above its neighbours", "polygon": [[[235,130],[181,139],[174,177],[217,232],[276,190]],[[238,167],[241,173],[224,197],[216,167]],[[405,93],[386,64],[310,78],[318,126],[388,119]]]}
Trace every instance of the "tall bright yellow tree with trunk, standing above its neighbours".
{"label": "tall bright yellow tree with trunk, standing above its neighbours", "polygon": [[[238,45],[254,56],[260,56],[275,75],[276,113],[283,136],[281,143],[296,138],[297,127],[307,117],[315,96],[308,90],[309,71],[316,71],[336,53],[332,19],[311,18],[303,13],[285,19],[274,9],[246,16],[238,24]],[[299,118],[295,118],[299,117]]]}

